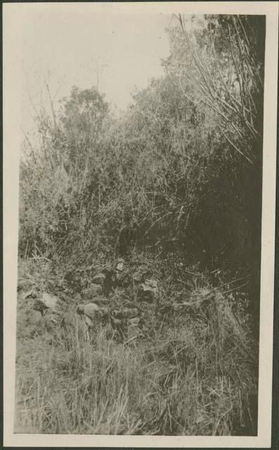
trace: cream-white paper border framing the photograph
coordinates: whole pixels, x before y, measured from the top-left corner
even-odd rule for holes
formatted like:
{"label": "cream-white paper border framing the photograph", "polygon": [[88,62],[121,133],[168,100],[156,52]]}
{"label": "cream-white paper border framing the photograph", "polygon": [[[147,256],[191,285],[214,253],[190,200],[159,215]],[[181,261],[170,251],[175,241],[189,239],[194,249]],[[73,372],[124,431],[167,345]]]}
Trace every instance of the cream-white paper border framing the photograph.
{"label": "cream-white paper border framing the photograph", "polygon": [[[215,13],[266,15],[264,83],[264,165],[261,231],[261,307],[259,342],[259,418],[256,437],[32,435],[13,432],[15,404],[15,335],[18,264],[18,180],[22,67],[20,30],[34,9],[77,9],[98,13]],[[3,4],[4,114],[4,446],[47,447],[212,447],[271,446],[273,366],[273,285],[275,262],[275,179],[278,81],[278,2],[127,2],[127,3],[11,3]]]}

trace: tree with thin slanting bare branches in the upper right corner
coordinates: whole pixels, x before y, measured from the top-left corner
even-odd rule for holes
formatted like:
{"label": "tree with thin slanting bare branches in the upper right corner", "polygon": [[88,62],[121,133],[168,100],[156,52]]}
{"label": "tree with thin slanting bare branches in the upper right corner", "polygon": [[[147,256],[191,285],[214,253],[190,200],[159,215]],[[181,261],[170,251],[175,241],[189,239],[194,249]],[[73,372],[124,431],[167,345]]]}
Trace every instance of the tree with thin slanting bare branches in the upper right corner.
{"label": "tree with thin slanting bare branches in the upper right corner", "polygon": [[191,33],[186,18],[176,20],[168,65],[183,95],[212,116],[233,153],[261,163],[264,18],[209,15]]}

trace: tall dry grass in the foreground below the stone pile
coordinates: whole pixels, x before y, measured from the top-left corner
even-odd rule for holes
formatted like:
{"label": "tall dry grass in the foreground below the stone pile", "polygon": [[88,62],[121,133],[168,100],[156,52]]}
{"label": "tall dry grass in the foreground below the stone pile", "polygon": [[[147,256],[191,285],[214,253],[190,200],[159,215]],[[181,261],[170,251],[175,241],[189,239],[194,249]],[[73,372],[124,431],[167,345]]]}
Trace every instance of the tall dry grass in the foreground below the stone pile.
{"label": "tall dry grass in the foreground below the stone pile", "polygon": [[[35,321],[26,293],[44,288],[47,270],[20,262],[15,432],[257,434],[257,345],[238,292],[164,313],[162,289],[141,335],[119,342],[109,323],[89,337],[74,300],[63,302],[66,326]],[[197,304],[212,289],[202,283]]]}

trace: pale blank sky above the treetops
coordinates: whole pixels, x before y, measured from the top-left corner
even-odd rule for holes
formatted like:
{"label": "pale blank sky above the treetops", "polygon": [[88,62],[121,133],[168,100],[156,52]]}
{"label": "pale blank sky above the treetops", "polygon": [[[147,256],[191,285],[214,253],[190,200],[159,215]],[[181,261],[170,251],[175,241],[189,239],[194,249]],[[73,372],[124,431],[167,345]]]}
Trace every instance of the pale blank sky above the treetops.
{"label": "pale blank sky above the treetops", "polygon": [[143,89],[152,77],[163,75],[170,13],[96,11],[88,6],[44,4],[22,13],[18,32],[25,131],[32,127],[34,107],[46,101],[46,82],[56,107],[73,85],[86,89],[98,83],[106,100],[124,109],[135,87]]}

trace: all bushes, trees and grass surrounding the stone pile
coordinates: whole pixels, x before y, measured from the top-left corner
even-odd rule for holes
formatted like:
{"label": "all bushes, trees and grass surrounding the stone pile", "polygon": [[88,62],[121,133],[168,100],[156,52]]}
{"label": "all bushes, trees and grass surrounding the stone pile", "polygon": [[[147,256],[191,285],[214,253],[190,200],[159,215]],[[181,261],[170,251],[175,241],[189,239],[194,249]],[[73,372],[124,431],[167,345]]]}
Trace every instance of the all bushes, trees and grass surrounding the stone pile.
{"label": "all bushes, trees and grass surrounding the stone pile", "polygon": [[[164,77],[122,115],[97,89],[76,86],[58,110],[50,97],[51,115],[37,112],[38,141],[25,140],[20,163],[19,257],[22,285],[29,274],[37,287],[63,295],[66,286],[73,298],[90,286],[86,267],[122,257],[130,271],[145,265],[156,276],[157,310],[211,290],[221,301],[203,325],[200,313],[162,322],[153,311],[148,338],[133,349],[100,330],[95,356],[78,333],[56,333],[51,347],[41,330],[19,336],[20,396],[25,411],[40,401],[41,413],[20,416],[18,429],[257,432],[265,23],[192,22],[189,33],[174,16]],[[129,283],[112,295],[125,294],[136,295]]]}

